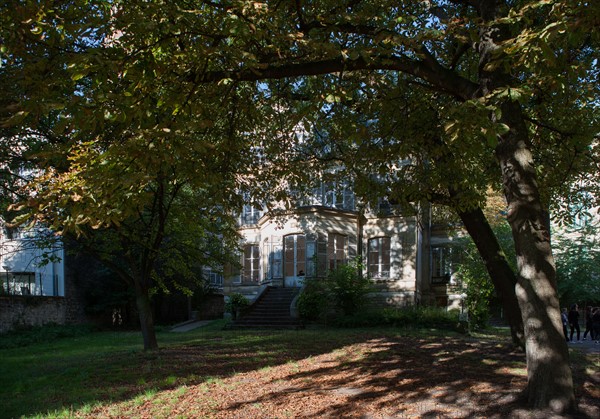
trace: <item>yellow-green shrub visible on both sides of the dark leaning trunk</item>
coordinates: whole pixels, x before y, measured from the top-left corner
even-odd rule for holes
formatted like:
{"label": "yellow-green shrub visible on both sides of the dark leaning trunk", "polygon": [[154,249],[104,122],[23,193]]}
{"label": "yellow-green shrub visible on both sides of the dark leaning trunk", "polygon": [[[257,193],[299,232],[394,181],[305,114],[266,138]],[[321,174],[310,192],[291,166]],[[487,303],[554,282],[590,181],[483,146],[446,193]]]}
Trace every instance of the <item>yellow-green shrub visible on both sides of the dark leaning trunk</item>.
{"label": "yellow-green shrub visible on both sides of the dark leaning trunk", "polygon": [[[516,255],[512,241],[510,226],[503,217],[492,226],[498,241],[504,250],[504,256],[513,269],[516,268]],[[457,247],[461,249],[461,257],[456,275],[462,282],[466,292],[466,308],[469,314],[469,328],[479,330],[487,327],[489,307],[494,297],[494,286],[479,252],[470,238],[458,240]]]}

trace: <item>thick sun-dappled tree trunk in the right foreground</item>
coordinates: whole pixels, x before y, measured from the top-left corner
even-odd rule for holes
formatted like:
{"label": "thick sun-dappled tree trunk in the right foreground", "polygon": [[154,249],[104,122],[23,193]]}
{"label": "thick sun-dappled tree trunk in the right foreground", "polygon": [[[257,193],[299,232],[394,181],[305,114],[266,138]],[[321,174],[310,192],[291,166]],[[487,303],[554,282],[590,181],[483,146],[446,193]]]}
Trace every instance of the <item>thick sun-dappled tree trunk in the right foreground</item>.
{"label": "thick sun-dappled tree trunk in the right foreground", "polygon": [[525,331],[526,396],[531,407],[562,413],[574,408],[575,397],[560,318],[550,228],[521,109],[517,103],[507,103],[502,115],[510,131],[500,138],[496,155],[517,253],[516,295]]}

